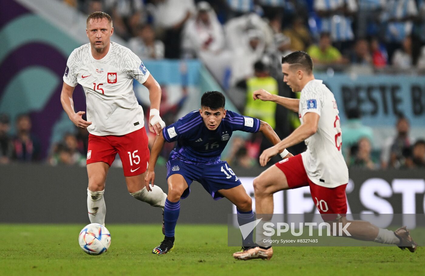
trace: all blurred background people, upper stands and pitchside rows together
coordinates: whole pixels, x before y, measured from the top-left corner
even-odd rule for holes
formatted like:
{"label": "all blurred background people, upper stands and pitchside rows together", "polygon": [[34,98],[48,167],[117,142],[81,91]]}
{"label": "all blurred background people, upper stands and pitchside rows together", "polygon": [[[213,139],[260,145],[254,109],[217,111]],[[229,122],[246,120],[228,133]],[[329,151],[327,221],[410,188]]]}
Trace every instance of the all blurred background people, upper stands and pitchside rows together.
{"label": "all blurred background people, upper stands and pitchside rows together", "polygon": [[[298,115],[272,102],[253,101],[252,92],[263,88],[272,94],[299,97],[281,81],[282,56],[304,50],[312,56],[315,70],[327,73],[425,72],[425,0],[61,1],[85,14],[110,14],[115,34],[142,60],[200,59],[239,112],[266,121],[281,138],[300,125]],[[165,100],[166,89],[163,92]],[[164,101],[161,113],[167,112],[165,107],[179,110],[187,91],[183,95],[176,106]],[[168,113],[167,123],[178,119],[176,112]],[[342,151],[349,167],[425,168],[425,137],[410,136],[407,118],[400,116],[397,134],[375,149],[372,129],[362,125],[360,112],[347,110],[346,117]],[[276,118],[286,120],[277,122]],[[65,134],[51,145],[47,159],[41,160],[39,142],[31,134],[31,118],[22,114],[13,123],[16,134],[11,136],[11,122],[1,114],[0,163],[47,160],[51,165],[85,165],[86,130],[76,128]],[[172,146],[164,149],[162,159]],[[261,134],[234,137],[223,157],[232,165],[258,166],[258,156],[269,146]],[[289,149],[294,154],[304,150],[304,143]]]}

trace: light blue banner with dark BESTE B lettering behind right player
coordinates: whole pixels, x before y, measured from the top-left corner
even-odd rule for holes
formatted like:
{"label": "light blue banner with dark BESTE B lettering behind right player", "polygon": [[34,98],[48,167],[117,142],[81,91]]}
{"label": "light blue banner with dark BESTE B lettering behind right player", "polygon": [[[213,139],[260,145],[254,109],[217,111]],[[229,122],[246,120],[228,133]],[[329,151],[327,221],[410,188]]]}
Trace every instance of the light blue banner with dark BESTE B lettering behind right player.
{"label": "light blue banner with dark BESTE B lettering behind right player", "polygon": [[365,125],[394,125],[404,114],[412,126],[425,127],[425,78],[406,75],[314,74],[334,93],[341,121],[359,107]]}

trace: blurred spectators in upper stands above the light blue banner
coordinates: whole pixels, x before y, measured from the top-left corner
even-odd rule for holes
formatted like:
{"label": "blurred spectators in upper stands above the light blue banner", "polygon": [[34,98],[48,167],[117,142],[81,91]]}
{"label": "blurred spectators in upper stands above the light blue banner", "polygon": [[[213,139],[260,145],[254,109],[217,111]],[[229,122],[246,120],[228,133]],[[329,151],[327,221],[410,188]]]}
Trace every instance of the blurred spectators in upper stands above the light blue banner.
{"label": "blurred spectators in upper stands above the light blue banner", "polygon": [[[295,50],[307,51],[318,70],[425,71],[424,0],[63,1],[109,13],[142,60],[198,57],[230,69],[230,86],[253,75],[263,56]],[[231,67],[220,68],[224,62]]]}

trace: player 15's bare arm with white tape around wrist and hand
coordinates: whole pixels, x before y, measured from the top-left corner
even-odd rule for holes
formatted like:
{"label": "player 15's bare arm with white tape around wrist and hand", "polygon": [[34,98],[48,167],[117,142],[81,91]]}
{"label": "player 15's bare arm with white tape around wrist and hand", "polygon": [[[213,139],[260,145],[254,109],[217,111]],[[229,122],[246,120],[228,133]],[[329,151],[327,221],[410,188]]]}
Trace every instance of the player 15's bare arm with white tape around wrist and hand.
{"label": "player 15's bare arm with white tape around wrist and hand", "polygon": [[149,114],[149,130],[159,135],[161,129],[165,127],[164,121],[159,116],[159,105],[161,103],[161,86],[149,75],[143,85],[149,90],[150,114]]}

